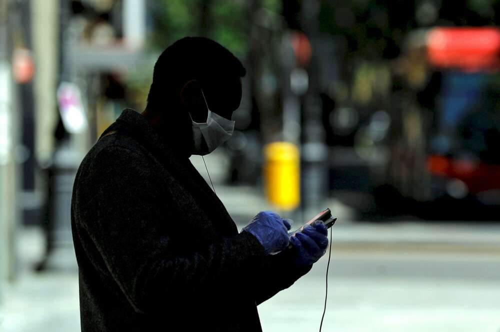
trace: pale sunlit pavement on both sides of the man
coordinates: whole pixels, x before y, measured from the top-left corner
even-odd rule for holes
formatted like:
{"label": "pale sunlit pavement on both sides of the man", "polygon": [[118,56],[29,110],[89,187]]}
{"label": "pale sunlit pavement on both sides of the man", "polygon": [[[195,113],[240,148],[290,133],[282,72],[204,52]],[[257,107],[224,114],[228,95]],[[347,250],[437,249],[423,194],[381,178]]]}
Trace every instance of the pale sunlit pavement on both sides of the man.
{"label": "pale sunlit pavement on both sides of the man", "polygon": [[[384,229],[390,226],[380,225]],[[411,243],[421,241],[418,225],[392,226],[386,239],[396,237],[398,229],[401,233],[417,229],[409,232],[414,237],[403,238]],[[500,294],[496,283],[500,256],[408,253],[395,248],[377,252],[359,247],[356,251],[353,246],[342,250],[336,247],[337,242],[358,241],[361,246],[361,239],[374,242],[383,232],[376,230],[379,226],[358,223],[345,222],[334,227],[326,331],[364,332],[372,331],[373,326],[390,332],[498,331],[493,328],[498,327],[495,315]],[[432,232],[437,233],[431,228]],[[455,234],[460,238],[466,233],[459,230]],[[42,233],[38,228],[28,228],[21,229],[19,235],[20,274],[14,283],[6,285],[0,331],[79,331],[77,274],[34,273],[32,266],[43,250]],[[444,239],[429,237],[432,241]],[[264,331],[317,330],[324,299],[325,266],[326,258],[322,258],[292,288],[259,306]],[[392,319],[397,320],[396,325]]]}

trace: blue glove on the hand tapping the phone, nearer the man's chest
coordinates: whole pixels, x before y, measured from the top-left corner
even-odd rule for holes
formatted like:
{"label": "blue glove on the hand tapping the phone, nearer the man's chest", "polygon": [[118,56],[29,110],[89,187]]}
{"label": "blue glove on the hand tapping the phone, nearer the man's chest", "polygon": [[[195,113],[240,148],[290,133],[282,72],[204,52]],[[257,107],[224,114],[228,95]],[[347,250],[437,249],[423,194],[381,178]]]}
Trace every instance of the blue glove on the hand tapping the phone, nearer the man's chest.
{"label": "blue glove on the hand tapping the phone, nearer the man's chest", "polygon": [[264,247],[265,253],[270,254],[288,246],[290,241],[288,230],[290,228],[291,225],[287,219],[282,219],[271,211],[262,211],[243,227],[243,231],[256,237]]}

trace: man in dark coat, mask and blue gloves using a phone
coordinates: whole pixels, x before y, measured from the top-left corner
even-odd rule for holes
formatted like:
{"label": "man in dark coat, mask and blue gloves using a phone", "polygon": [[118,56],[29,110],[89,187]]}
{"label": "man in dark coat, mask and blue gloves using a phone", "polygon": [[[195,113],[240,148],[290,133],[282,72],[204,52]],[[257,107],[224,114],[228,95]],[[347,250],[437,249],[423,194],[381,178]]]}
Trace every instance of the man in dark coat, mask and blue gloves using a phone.
{"label": "man in dark coat, mask and blue gloves using a phone", "polygon": [[290,241],[266,211],[238,233],[188,159],[231,136],[244,75],[220,44],[176,41],[146,109],[123,110],[82,161],[71,202],[82,331],[261,331],[256,306],[324,254],[322,223]]}

